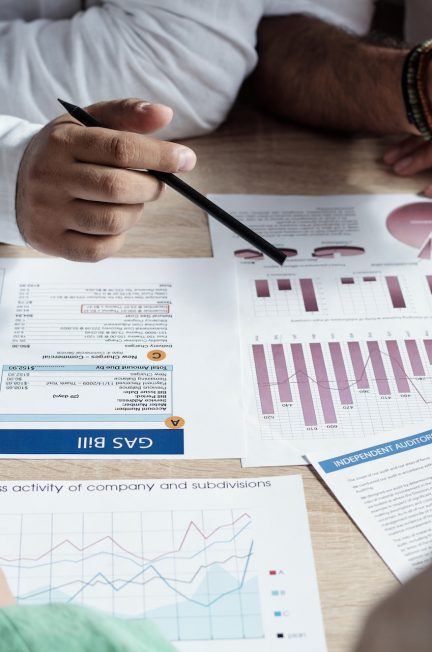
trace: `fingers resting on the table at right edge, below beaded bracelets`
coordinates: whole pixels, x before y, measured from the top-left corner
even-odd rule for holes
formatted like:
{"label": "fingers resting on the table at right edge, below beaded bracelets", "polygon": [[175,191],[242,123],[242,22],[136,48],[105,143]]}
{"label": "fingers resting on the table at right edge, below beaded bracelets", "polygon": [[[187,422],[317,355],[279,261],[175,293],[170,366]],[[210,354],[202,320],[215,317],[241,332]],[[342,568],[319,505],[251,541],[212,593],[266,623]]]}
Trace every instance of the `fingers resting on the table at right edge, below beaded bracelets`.
{"label": "fingers resting on the table at right edge, below beaded bracelets", "polygon": [[[384,154],[383,161],[392,168],[393,172],[402,177],[430,170],[432,168],[432,143],[426,142],[421,136],[410,136],[395,147],[391,147]],[[423,192],[428,197],[432,197],[432,185]]]}

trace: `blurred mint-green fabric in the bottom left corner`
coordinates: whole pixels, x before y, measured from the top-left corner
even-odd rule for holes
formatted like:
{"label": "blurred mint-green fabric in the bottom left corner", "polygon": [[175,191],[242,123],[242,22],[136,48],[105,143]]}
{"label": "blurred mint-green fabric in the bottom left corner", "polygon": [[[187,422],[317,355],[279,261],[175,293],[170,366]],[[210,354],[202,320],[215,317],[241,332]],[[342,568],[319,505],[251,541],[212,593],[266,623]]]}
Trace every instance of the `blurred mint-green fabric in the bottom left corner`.
{"label": "blurred mint-green fabric in the bottom left corner", "polygon": [[148,620],[66,604],[0,609],[0,652],[175,652]]}

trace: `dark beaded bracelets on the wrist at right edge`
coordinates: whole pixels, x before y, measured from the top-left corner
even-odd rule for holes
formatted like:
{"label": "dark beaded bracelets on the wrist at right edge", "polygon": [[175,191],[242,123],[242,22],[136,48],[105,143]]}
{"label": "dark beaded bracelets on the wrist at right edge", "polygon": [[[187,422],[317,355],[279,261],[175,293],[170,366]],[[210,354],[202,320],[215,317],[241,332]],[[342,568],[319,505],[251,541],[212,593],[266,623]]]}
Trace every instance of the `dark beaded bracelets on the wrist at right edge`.
{"label": "dark beaded bracelets on the wrist at right edge", "polygon": [[432,140],[432,105],[427,92],[427,70],[432,59],[432,39],[416,45],[406,56],[402,94],[408,121],[425,140]]}

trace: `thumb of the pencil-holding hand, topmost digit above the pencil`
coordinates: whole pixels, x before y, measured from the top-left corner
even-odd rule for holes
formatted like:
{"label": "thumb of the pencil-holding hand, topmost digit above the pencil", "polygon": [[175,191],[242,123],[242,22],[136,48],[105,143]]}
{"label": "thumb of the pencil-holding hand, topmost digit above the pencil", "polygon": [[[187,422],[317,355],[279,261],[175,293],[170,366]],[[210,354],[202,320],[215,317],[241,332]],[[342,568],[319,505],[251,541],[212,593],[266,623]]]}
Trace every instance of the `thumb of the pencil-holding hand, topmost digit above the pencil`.
{"label": "thumb of the pencil-holding hand, topmost digit above the pencil", "polygon": [[158,131],[166,127],[173,117],[173,110],[169,106],[135,98],[98,102],[88,106],[86,111],[104,127],[138,134]]}

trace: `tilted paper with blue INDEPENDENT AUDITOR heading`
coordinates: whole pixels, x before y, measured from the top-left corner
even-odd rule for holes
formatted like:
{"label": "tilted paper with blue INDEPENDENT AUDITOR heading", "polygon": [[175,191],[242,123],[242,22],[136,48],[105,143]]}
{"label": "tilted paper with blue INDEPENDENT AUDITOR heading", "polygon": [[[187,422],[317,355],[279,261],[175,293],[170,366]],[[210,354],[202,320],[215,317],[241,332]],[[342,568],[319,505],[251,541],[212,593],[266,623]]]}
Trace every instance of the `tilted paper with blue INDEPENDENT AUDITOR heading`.
{"label": "tilted paper with blue INDEPENDENT AUDITOR heading", "polygon": [[377,444],[308,455],[400,581],[432,562],[432,430],[404,428]]}

